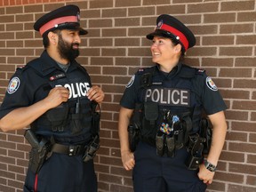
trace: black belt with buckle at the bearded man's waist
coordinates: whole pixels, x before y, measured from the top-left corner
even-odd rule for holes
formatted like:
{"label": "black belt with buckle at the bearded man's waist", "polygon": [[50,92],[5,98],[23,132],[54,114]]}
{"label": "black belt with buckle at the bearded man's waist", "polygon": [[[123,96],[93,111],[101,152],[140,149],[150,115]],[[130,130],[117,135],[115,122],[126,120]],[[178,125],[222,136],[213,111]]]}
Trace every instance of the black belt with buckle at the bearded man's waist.
{"label": "black belt with buckle at the bearded man's waist", "polygon": [[62,145],[54,143],[51,152],[66,154],[68,156],[79,156],[84,155],[86,147],[86,145]]}

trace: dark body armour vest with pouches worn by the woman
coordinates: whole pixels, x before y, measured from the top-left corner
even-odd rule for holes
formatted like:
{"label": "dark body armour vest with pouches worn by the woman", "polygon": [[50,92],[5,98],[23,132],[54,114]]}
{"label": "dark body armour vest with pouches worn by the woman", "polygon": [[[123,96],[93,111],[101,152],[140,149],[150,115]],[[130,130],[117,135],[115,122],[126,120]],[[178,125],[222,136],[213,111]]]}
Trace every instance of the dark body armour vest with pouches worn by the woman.
{"label": "dark body armour vest with pouches worn by the woman", "polygon": [[133,120],[140,122],[141,140],[155,146],[157,132],[165,132],[180,148],[188,142],[189,134],[199,131],[202,106],[192,81],[197,70],[182,64],[169,78],[156,72],[156,67],[140,73],[141,103],[134,110]]}

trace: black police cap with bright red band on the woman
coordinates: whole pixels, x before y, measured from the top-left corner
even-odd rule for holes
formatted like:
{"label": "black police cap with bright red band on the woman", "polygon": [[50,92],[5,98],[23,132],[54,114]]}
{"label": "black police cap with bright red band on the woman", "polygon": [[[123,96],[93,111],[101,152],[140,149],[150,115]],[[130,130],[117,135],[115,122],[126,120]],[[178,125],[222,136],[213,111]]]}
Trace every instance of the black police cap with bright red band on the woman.
{"label": "black police cap with bright red band on the woman", "polygon": [[156,29],[147,35],[152,40],[154,36],[172,38],[182,45],[185,52],[196,44],[194,34],[180,20],[168,14],[162,14],[156,19]]}

